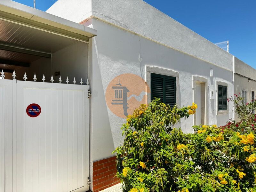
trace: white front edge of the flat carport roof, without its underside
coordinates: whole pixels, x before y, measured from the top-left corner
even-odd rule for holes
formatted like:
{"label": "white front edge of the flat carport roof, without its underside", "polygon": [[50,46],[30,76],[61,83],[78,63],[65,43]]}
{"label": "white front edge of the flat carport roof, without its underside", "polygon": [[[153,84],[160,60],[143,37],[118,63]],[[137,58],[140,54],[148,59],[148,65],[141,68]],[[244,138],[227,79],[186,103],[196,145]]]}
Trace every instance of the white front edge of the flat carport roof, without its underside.
{"label": "white front edge of the flat carport roof, without its underside", "polygon": [[11,0],[0,1],[0,19],[85,43],[97,30]]}

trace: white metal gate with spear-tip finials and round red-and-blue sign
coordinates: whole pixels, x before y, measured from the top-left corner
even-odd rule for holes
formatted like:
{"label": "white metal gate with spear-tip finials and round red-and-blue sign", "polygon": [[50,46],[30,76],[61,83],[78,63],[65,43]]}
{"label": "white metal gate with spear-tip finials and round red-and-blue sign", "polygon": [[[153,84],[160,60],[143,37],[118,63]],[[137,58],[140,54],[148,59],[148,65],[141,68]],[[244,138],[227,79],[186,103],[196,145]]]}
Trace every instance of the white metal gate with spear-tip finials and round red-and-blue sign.
{"label": "white metal gate with spear-tip finials and round red-and-blue sign", "polygon": [[0,191],[89,190],[89,85],[26,78],[0,79]]}

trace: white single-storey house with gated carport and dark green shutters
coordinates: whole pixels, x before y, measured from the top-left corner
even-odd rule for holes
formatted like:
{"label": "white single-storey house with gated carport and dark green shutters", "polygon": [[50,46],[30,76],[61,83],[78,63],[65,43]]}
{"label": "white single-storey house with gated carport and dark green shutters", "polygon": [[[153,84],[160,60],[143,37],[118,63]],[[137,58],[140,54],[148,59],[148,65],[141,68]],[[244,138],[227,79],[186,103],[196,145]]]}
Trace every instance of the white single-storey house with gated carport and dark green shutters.
{"label": "white single-storey house with gated carport and dark green shutters", "polygon": [[197,103],[177,125],[193,132],[234,119],[227,98],[254,90],[255,69],[142,0],[58,0],[46,12],[2,0],[0,21],[2,191],[98,192],[119,182],[112,151],[140,104]]}

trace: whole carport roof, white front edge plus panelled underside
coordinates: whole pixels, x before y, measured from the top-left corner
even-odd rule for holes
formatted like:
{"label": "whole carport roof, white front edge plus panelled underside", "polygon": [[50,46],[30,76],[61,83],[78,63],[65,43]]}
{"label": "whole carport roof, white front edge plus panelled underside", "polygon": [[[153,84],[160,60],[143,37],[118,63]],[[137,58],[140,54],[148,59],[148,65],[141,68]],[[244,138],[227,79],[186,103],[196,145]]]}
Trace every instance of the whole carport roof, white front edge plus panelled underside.
{"label": "whole carport roof, white front edge plus panelled underside", "polygon": [[29,67],[42,57],[78,41],[88,43],[97,30],[11,0],[0,0],[0,72]]}

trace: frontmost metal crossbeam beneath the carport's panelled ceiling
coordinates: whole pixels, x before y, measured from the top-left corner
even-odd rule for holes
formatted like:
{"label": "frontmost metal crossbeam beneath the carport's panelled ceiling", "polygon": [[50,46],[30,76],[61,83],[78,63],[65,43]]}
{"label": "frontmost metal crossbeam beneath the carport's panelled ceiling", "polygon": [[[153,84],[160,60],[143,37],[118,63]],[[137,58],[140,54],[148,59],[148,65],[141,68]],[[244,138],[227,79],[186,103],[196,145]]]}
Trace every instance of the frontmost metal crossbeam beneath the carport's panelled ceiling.
{"label": "frontmost metal crossbeam beneath the carport's panelled ceiling", "polygon": [[40,51],[36,51],[36,50],[32,50],[32,49],[18,47],[18,46],[15,46],[15,45],[7,45],[7,44],[1,44],[0,43],[0,49],[5,50],[5,51],[24,53],[24,54],[28,54],[28,55],[35,55],[35,56],[39,56],[39,57],[52,58],[51,53],[40,52]]}

